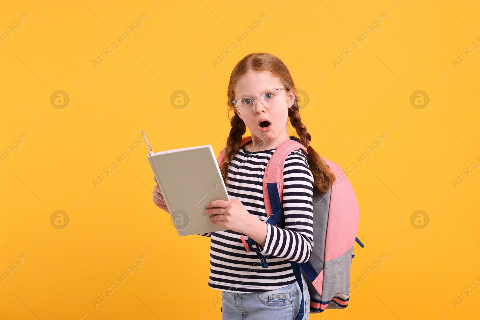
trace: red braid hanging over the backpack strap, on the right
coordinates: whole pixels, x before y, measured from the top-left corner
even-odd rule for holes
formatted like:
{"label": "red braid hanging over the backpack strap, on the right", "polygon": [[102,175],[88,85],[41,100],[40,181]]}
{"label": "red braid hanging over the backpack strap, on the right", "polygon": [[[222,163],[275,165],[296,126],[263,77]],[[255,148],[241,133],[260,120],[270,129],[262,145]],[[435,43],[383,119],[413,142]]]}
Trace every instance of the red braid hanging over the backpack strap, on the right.
{"label": "red braid hanging over the backpack strap, on the right", "polygon": [[300,137],[300,143],[307,147],[307,162],[313,175],[313,190],[322,193],[327,192],[335,182],[335,175],[327,167],[322,157],[310,145],[312,137],[310,133],[308,133],[305,125],[301,122],[297,96],[295,96],[293,106],[288,109],[288,118],[290,119],[292,127],[297,130],[297,134]]}

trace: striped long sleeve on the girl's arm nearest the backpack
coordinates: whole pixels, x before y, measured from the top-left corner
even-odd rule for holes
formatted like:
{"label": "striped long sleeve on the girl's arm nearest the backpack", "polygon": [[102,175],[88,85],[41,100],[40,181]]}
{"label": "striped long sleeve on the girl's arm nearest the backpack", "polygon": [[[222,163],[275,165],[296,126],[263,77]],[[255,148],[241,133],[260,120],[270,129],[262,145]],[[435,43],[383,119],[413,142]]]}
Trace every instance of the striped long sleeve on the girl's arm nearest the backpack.
{"label": "striped long sleeve on the girl's arm nearest the backpack", "polygon": [[265,246],[258,249],[264,256],[303,263],[313,247],[313,175],[300,149],[287,156],[283,179],[285,229],[267,224]]}

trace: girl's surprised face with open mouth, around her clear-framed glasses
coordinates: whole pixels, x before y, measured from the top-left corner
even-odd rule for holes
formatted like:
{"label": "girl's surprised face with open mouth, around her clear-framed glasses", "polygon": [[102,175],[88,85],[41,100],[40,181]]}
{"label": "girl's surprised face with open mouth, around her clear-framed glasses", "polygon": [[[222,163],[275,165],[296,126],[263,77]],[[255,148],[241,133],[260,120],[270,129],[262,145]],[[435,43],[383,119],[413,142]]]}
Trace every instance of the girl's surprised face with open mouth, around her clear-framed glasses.
{"label": "girl's surprised face with open mouth, around her clear-framed glasses", "polygon": [[[240,99],[245,96],[253,97],[261,95],[266,90],[282,87],[284,85],[270,72],[250,71],[243,75],[235,86],[234,99]],[[252,112],[241,114],[235,109],[240,119],[245,122],[247,128],[252,132],[254,145],[256,143],[263,145],[264,143],[262,142],[265,141],[267,142],[266,145],[273,145],[272,148],[276,148],[275,142],[280,144],[288,139],[288,108],[293,105],[295,92],[287,90],[278,90],[277,92],[279,101],[274,107],[265,107],[258,98],[254,98],[255,105]]]}

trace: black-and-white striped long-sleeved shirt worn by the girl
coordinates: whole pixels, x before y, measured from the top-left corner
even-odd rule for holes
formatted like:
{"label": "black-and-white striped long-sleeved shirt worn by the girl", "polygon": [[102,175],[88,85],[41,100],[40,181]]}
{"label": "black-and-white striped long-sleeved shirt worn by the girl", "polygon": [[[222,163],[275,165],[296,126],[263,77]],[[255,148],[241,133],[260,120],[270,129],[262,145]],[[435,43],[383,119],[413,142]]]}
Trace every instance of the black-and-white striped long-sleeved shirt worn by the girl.
{"label": "black-and-white striped long-sleeved shirt worn by the girl", "polygon": [[[228,196],[265,221],[263,177],[275,149],[249,152],[242,146],[229,163]],[[268,268],[262,268],[254,251],[247,253],[241,233],[231,230],[199,234],[210,237],[210,277],[214,289],[253,293],[278,289],[295,282],[289,261],[308,261],[313,247],[313,176],[301,149],[291,152],[284,165],[283,210],[285,229],[266,224],[265,246],[258,250]],[[245,241],[248,237],[244,235]],[[253,247],[257,249],[257,244]]]}

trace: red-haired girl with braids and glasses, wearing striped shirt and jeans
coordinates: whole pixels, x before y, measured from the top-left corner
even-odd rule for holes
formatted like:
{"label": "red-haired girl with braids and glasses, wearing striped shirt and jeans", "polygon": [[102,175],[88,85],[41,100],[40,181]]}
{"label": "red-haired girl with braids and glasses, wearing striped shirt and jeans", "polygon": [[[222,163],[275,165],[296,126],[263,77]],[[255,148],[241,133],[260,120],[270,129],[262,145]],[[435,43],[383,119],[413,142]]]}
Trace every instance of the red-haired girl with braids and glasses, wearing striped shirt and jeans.
{"label": "red-haired girl with braids and glasses, wearing striped shirt and jeans", "polygon": [[[201,234],[211,237],[208,285],[222,290],[222,319],[293,320],[300,309],[301,290],[303,319],[309,317],[307,284],[302,278],[303,288],[299,287],[289,261],[303,263],[310,258],[313,190],[326,192],[335,177],[310,145],[311,136],[301,122],[295,93],[287,66],[268,53],[247,55],[230,75],[228,110],[234,116],[220,171],[231,201],[209,202],[205,210],[215,214],[209,217],[213,224],[228,230]],[[308,155],[298,149],[285,160],[282,229],[264,222],[263,176],[278,145],[290,139],[288,119]],[[247,127],[252,142],[240,147]],[[168,211],[158,184],[153,201]],[[245,251],[241,235],[257,243],[268,268],[261,267],[255,252]]]}

